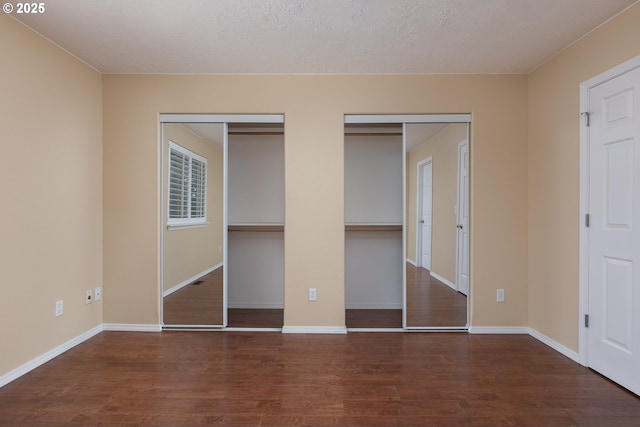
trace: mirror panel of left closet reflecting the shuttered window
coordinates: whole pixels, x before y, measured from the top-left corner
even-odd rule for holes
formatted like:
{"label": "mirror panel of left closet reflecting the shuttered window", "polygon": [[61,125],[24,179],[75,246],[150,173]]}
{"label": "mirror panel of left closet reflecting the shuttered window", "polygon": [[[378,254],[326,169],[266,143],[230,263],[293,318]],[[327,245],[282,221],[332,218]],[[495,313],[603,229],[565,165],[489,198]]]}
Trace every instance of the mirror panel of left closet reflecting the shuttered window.
{"label": "mirror panel of left closet reflecting the shuttered window", "polygon": [[163,123],[163,324],[224,323],[224,124]]}

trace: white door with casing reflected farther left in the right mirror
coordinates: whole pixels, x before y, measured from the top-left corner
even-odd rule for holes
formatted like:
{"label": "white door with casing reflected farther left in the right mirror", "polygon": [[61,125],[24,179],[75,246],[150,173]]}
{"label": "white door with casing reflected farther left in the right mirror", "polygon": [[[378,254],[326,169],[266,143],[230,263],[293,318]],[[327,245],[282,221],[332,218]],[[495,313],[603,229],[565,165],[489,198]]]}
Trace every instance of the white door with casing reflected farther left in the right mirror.
{"label": "white door with casing reflected farther left in the right mirror", "polygon": [[431,234],[433,224],[433,162],[429,157],[418,165],[419,253],[418,266],[431,270]]}

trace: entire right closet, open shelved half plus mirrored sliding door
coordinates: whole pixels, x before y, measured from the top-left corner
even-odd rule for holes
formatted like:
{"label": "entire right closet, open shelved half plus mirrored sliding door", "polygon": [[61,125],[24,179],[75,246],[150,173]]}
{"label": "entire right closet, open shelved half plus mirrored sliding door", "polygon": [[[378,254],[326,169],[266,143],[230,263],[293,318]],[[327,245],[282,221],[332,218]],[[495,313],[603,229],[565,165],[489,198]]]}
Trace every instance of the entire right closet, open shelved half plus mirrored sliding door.
{"label": "entire right closet, open shelved half plus mirrored sliding door", "polygon": [[345,117],[349,329],[464,329],[468,115]]}

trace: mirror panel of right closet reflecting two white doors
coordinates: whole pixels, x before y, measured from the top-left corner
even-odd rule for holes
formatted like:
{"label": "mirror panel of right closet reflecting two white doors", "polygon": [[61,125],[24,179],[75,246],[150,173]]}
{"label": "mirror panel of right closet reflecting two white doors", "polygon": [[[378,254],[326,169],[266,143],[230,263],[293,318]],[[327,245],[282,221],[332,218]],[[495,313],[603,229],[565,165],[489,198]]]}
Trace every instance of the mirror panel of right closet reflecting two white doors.
{"label": "mirror panel of right closet reflecting two white doors", "polygon": [[464,327],[469,293],[468,125],[406,125],[406,326]]}

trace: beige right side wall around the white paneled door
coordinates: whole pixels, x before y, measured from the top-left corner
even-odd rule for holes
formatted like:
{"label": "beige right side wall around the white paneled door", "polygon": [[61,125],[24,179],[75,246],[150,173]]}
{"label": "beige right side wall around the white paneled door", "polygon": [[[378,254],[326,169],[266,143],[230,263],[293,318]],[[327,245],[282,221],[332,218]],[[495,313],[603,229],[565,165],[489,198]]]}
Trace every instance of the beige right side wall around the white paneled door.
{"label": "beige right side wall around the white paneled door", "polygon": [[578,350],[581,82],[640,55],[640,5],[529,76],[529,324]]}

